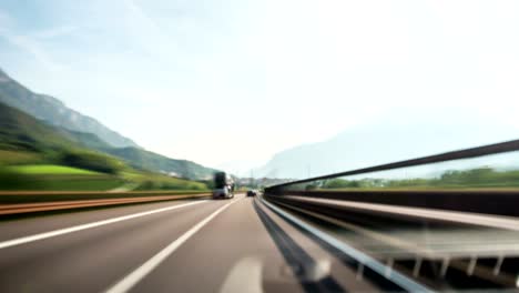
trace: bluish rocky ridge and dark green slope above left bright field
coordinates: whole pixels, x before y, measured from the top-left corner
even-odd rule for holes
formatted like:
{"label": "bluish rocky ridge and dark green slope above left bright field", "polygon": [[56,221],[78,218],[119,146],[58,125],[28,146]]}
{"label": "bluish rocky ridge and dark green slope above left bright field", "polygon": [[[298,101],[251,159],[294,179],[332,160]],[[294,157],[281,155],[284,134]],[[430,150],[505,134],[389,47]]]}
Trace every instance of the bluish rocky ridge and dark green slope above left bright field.
{"label": "bluish rocky ridge and dark green slope above left bright field", "polygon": [[[216,171],[192,161],[146,151],[96,120],[67,108],[58,99],[31,92],[0,70],[2,113],[6,117],[0,117],[0,122],[4,122],[0,129],[0,150],[85,148],[122,159],[139,170],[196,180],[208,179]],[[70,121],[83,121],[88,125],[82,127],[83,122],[79,122],[71,128]]]}

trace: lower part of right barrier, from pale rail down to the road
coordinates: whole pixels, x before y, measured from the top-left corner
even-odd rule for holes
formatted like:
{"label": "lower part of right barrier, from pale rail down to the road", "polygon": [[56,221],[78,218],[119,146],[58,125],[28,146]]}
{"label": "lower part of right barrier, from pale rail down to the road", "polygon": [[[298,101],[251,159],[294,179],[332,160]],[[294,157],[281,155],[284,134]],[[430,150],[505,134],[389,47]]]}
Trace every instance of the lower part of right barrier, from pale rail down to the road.
{"label": "lower part of right barrier, from pale rail down to the road", "polygon": [[[513,239],[517,238],[510,235],[517,233],[519,224],[513,218],[438,210],[424,212],[419,211],[420,209],[301,195],[268,195],[266,200],[314,225],[330,226],[327,231],[329,235],[343,241],[348,239],[345,243],[353,243],[364,254],[384,263],[386,273],[379,276],[391,276],[393,270],[396,270],[418,284],[438,291],[445,291],[446,285],[452,291],[517,290],[519,251],[513,243]],[[474,225],[480,228],[476,230],[477,238],[475,234],[470,238],[470,228]],[[398,229],[405,232],[399,233]],[[451,231],[459,235],[444,234],[449,229],[454,229]],[[409,236],[410,231],[416,233],[414,238]],[[425,241],[420,236],[416,238],[424,235],[424,232],[427,232]],[[344,236],[340,236],[342,234]],[[377,244],[373,245],[375,243]],[[328,251],[330,249],[329,245],[323,247]],[[365,272],[362,263],[350,266],[357,270],[357,276]],[[434,269],[430,270],[431,267]]]}

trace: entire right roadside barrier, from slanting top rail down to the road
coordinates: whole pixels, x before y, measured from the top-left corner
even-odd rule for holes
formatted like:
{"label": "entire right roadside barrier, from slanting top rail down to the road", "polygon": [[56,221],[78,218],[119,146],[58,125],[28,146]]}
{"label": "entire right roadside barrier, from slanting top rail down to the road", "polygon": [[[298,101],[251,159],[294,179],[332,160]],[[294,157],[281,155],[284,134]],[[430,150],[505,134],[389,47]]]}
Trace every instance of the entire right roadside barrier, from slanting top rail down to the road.
{"label": "entire right roadside barrier, from slanting top rail down to the road", "polygon": [[[352,176],[355,180],[363,178],[366,173],[379,171],[389,171],[383,173],[386,175],[395,174],[400,173],[399,170],[405,168],[420,166],[418,169],[423,170],[429,169],[428,166],[421,168],[426,164],[515,151],[519,151],[519,140],[297,180],[265,189],[265,200],[311,223],[328,224],[333,226],[330,231],[339,228],[348,233],[359,234],[360,240],[381,242],[383,245],[375,245],[370,249],[372,242],[366,242],[369,245],[365,247],[364,243],[355,242],[357,238],[349,238],[349,241],[365,249],[368,255],[376,253],[379,246],[386,247],[376,254],[377,260],[386,264],[385,272],[391,272],[395,267],[403,274],[411,276],[414,281],[431,285],[432,289],[440,289],[439,291],[444,284],[459,290],[482,287],[515,290],[519,284],[517,277],[519,252],[513,243],[512,245],[507,243],[515,239],[510,235],[519,231],[519,209],[517,209],[519,184],[516,184],[519,183],[519,165],[513,165],[513,171],[517,171],[512,178],[515,184],[510,188],[507,185],[505,189],[474,186],[445,189],[444,185],[434,189],[431,185],[431,189],[411,186],[398,190],[385,188],[389,185],[383,184],[378,189],[334,190],[326,185],[329,179]],[[505,159],[508,161],[509,156]],[[519,160],[519,156],[513,156],[513,160]],[[492,159],[485,158],[484,161],[488,162]],[[471,160],[468,162],[474,163]],[[455,165],[457,164],[456,162]],[[465,161],[461,164],[466,166]],[[432,169],[436,169],[436,165]],[[363,176],[356,176],[359,174]],[[388,180],[388,176],[385,180]],[[306,189],[307,186],[313,189]],[[478,238],[476,242],[464,242],[464,233],[467,232],[467,235],[470,235],[470,229],[474,228],[481,233],[481,241]],[[405,233],[393,234],[399,229]],[[448,241],[446,242],[441,234],[442,231],[449,231],[449,229],[452,229],[452,232],[461,231],[459,240],[455,239],[450,242],[450,246],[446,245]],[[435,231],[437,232],[436,241],[440,241],[438,242],[441,243],[440,246],[435,246],[434,241],[429,246],[429,242],[413,241],[413,238],[401,241],[403,236],[398,236],[408,235],[406,233],[409,231],[419,234],[429,230],[431,235]],[[427,243],[425,247],[424,243]],[[364,265],[359,264],[352,265],[352,267],[357,269],[357,275],[364,270]],[[436,269],[429,270],[430,267]]]}

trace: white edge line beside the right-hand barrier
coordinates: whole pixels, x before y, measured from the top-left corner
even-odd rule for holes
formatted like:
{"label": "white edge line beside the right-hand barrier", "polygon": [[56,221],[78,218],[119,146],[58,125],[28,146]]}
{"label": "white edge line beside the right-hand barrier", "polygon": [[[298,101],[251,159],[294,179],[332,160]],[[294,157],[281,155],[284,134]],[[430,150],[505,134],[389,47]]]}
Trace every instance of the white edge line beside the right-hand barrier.
{"label": "white edge line beside the right-hand barrier", "polygon": [[[375,272],[377,272],[378,274],[380,274],[381,276],[385,275],[386,273],[386,265],[381,264],[380,262],[376,261],[375,259],[373,259],[372,256],[347,245],[346,243],[344,242],[340,242],[338,241],[337,239],[322,232],[320,230],[318,229],[315,229],[308,224],[306,224],[305,222],[298,220],[297,218],[286,213],[285,211],[283,211],[282,209],[268,203],[267,201],[265,201],[264,199],[262,199],[262,202],[267,205],[268,208],[271,208],[272,210],[274,210],[275,212],[277,212],[278,214],[283,215],[283,218],[289,220],[291,222],[297,224],[298,226],[301,226],[302,229],[306,230],[307,232],[314,234],[315,236],[319,238],[320,240],[325,241],[326,243],[328,243],[329,245],[336,247],[337,250],[342,251],[343,253],[352,256],[353,259],[357,260],[359,263],[364,264],[365,266],[374,270]],[[434,292],[432,290],[413,281],[411,279],[396,272],[396,271],[393,271],[391,272],[391,275],[388,277],[388,280],[390,280],[391,282],[398,284],[399,286],[401,286],[404,290],[408,291],[408,292]]]}

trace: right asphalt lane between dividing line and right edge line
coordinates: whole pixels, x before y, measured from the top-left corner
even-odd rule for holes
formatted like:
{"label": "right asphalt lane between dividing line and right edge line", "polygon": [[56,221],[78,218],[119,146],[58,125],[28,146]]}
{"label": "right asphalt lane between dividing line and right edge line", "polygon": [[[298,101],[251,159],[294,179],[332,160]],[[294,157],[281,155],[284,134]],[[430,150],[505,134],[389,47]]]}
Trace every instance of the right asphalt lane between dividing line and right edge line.
{"label": "right asphalt lane between dividing line and right edge line", "polygon": [[[132,292],[173,292],[179,289],[182,292],[376,291],[366,282],[357,282],[354,272],[294,229],[283,230],[288,229],[287,224],[254,201],[245,198],[231,205]],[[281,242],[297,242],[279,245],[267,225],[277,225],[277,232],[286,234]],[[293,246],[298,246],[298,251]],[[286,257],[285,254],[291,253],[293,257]],[[337,284],[316,290],[313,284],[326,280],[332,271],[337,275],[334,276]]]}

